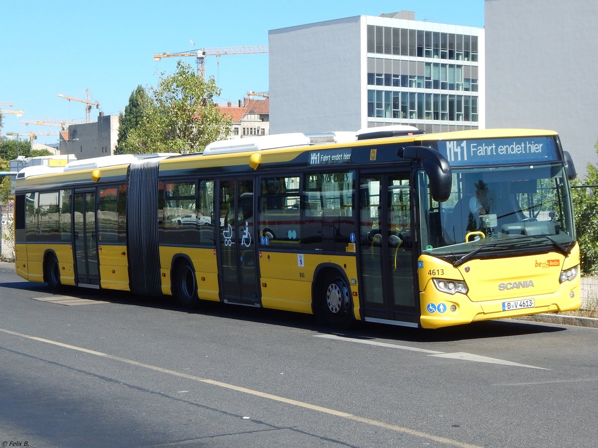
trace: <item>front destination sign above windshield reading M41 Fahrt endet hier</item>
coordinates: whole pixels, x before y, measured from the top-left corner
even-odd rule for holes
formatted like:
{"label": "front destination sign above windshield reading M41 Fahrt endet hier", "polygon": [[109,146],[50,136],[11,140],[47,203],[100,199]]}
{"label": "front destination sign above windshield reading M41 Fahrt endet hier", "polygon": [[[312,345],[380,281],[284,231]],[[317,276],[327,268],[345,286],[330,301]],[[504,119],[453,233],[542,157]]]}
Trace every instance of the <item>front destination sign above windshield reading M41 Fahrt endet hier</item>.
{"label": "front destination sign above windshield reading M41 Fahrt endet hier", "polygon": [[438,142],[438,151],[453,167],[553,162],[559,159],[553,137],[447,140]]}

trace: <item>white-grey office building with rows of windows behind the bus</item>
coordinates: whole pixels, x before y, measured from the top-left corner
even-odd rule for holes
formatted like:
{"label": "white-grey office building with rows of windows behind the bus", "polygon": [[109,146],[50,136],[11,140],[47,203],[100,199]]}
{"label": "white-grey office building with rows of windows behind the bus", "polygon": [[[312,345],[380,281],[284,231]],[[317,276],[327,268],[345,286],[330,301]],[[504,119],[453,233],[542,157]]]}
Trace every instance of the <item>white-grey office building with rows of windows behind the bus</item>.
{"label": "white-grey office building with rows of windows behind the bus", "polygon": [[270,133],[484,127],[484,30],[410,11],[270,30]]}

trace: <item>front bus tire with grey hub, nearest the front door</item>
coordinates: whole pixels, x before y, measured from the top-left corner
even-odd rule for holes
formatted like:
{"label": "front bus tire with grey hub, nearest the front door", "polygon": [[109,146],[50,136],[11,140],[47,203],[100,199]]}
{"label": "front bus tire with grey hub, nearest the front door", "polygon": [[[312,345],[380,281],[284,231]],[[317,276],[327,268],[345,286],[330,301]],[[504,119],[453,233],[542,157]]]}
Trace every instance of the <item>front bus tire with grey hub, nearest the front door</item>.
{"label": "front bus tire with grey hub, nearest the front door", "polygon": [[337,272],[329,272],[320,286],[320,313],[334,329],[346,330],[355,323],[351,289]]}

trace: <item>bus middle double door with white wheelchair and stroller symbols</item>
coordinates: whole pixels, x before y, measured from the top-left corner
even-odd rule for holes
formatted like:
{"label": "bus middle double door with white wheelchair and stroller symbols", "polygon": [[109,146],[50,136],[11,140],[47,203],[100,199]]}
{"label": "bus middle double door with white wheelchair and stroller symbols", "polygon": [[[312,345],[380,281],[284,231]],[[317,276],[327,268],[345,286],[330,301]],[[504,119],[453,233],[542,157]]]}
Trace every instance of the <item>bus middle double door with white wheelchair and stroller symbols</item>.
{"label": "bus middle double door with white wheelchair and stroller symbols", "polygon": [[219,181],[218,243],[221,299],[258,305],[258,272],[255,261],[254,180]]}

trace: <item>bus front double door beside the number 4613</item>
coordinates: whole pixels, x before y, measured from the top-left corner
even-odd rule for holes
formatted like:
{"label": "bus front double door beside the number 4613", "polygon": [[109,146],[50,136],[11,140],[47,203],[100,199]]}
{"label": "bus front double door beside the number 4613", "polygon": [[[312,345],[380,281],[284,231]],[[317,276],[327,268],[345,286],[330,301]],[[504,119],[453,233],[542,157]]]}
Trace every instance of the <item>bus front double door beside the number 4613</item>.
{"label": "bus front double door beside the number 4613", "polygon": [[360,204],[364,317],[417,326],[409,173],[364,174]]}

